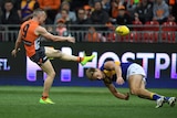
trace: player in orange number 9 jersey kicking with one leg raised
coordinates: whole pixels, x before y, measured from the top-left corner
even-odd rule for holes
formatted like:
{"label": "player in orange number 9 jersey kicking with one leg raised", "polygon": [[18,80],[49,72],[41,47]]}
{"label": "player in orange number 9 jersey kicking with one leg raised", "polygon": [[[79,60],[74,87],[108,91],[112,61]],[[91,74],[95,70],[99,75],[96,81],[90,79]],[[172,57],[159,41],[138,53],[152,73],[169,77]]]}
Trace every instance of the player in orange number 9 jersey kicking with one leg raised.
{"label": "player in orange number 9 jersey kicking with one leg raised", "polygon": [[19,31],[18,39],[15,41],[14,50],[11,53],[13,56],[17,56],[20,44],[21,42],[23,42],[27,56],[31,61],[35,62],[42,68],[42,71],[44,71],[48,75],[43,85],[44,87],[43,87],[42,97],[40,98],[40,103],[54,104],[49,98],[49,93],[53,84],[55,72],[50,60],[48,58],[59,57],[64,61],[74,61],[74,62],[81,63],[82,65],[85,65],[88,61],[93,60],[94,55],[79,57],[74,55],[67,55],[52,47],[40,46],[41,36],[44,36],[45,39],[52,40],[54,42],[58,42],[58,41],[67,41],[72,43],[75,42],[74,37],[56,36],[48,32],[43,26],[41,26],[41,24],[44,23],[45,19],[46,19],[46,13],[43,10],[41,9],[34,10],[33,18],[22,23]]}

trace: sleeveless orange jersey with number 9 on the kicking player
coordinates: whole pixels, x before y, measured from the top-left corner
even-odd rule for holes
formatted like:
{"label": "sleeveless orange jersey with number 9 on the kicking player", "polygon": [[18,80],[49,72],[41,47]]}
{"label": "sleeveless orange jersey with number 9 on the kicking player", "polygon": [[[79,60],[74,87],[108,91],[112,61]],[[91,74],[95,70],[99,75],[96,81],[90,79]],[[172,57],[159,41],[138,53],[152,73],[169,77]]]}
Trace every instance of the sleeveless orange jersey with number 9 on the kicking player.
{"label": "sleeveless orange jersey with number 9 on the kicking player", "polygon": [[39,26],[38,22],[33,20],[29,20],[29,21],[25,21],[20,28],[25,53],[27,53],[27,56],[29,57],[35,54],[35,50],[40,49],[41,36],[34,33],[38,26]]}

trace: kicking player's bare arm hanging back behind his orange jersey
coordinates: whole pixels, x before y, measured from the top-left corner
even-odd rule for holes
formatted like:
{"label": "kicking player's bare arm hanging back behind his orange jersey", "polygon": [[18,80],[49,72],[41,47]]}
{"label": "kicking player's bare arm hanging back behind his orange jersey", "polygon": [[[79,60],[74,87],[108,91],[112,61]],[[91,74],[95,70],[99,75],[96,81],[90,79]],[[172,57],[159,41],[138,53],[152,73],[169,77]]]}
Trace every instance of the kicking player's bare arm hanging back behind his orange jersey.
{"label": "kicking player's bare arm hanging back behind his orange jersey", "polygon": [[15,41],[15,45],[14,45],[14,50],[12,50],[11,54],[12,56],[17,56],[17,53],[20,51],[20,44],[21,44],[22,40],[21,40],[21,32],[19,31],[19,35],[18,39]]}

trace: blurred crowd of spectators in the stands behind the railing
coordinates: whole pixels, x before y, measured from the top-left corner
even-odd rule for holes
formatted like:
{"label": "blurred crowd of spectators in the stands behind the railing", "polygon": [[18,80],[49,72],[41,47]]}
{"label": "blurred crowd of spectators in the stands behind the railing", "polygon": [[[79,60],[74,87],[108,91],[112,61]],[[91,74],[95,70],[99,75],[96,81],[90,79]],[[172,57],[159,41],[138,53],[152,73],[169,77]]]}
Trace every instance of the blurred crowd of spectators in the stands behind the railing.
{"label": "blurred crowd of spectators in the stands behind the railing", "polygon": [[[64,35],[69,24],[75,25],[71,30],[95,32],[135,22],[177,22],[177,0],[0,0],[0,24],[21,24],[37,8],[46,11],[45,23],[56,25],[59,35]],[[81,26],[90,24],[104,26]],[[102,34],[95,36],[105,41]],[[90,34],[85,37],[90,40]]]}

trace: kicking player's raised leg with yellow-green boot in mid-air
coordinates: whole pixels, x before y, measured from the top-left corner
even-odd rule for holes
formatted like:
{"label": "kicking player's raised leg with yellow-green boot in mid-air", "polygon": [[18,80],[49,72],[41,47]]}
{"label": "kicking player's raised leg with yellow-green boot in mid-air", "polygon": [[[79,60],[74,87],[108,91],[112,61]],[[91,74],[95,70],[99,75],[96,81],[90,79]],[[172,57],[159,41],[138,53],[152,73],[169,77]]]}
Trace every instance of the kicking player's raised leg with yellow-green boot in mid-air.
{"label": "kicking player's raised leg with yellow-green boot in mid-air", "polygon": [[52,57],[52,58],[58,57],[64,61],[74,61],[74,62],[81,63],[82,65],[85,65],[88,61],[92,61],[95,57],[94,55],[79,57],[79,56],[62,53],[60,50],[54,50],[53,47],[45,46],[44,49],[45,49],[45,55],[48,57]]}

